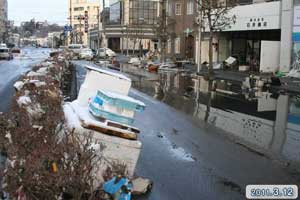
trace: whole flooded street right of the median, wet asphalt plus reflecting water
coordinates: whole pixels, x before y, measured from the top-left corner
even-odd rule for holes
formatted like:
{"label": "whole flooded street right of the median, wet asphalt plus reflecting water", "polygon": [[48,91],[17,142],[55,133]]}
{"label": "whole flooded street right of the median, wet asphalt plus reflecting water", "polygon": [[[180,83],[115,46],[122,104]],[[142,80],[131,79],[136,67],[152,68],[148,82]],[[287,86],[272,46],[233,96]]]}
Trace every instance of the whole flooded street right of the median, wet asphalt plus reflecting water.
{"label": "whole flooded street right of the median, wet asphalt plus reflecting water", "polygon": [[[84,64],[75,62],[77,87]],[[136,174],[154,187],[141,199],[245,199],[248,184],[300,183],[296,97],[220,83],[209,98],[206,82],[188,73],[121,70],[132,79],[130,96],[147,106],[134,123],[143,143]]]}

